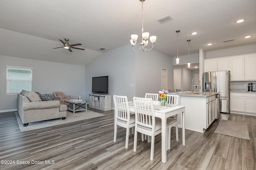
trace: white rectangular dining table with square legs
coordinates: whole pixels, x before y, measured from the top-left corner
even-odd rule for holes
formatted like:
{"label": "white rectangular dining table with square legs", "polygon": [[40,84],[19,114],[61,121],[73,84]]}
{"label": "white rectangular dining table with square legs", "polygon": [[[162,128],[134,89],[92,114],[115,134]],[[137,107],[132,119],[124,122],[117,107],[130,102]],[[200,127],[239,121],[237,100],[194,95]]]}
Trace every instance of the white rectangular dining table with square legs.
{"label": "white rectangular dining table with square legs", "polygon": [[[129,105],[130,112],[135,112],[134,106]],[[173,107],[166,107],[166,109],[154,110],[155,117],[159,117],[162,120],[162,162],[166,162],[167,157],[167,137],[168,133],[166,132],[166,119],[168,117],[176,115],[178,121],[178,113],[181,113],[181,126],[182,126],[182,145],[185,146],[185,106],[177,105]]]}

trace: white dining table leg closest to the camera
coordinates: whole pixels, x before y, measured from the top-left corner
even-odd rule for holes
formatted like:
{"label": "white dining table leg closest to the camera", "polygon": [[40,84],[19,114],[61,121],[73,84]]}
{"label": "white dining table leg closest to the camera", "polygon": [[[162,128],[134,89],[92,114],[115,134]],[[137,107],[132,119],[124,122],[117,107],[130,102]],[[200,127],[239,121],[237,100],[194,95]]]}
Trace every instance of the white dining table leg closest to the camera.
{"label": "white dining table leg closest to the camera", "polygon": [[162,117],[162,162],[166,162],[166,140],[167,140],[167,133],[166,133],[166,117]]}

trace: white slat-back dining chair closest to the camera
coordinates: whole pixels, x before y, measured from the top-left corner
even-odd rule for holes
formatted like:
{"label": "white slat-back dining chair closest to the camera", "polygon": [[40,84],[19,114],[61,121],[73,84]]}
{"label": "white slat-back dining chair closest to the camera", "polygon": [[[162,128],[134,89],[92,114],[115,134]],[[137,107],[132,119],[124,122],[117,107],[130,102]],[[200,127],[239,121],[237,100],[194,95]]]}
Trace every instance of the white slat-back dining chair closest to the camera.
{"label": "white slat-back dining chair closest to the camera", "polygon": [[154,159],[155,136],[161,133],[161,122],[156,121],[154,106],[151,98],[133,97],[135,109],[134,147],[137,150],[138,132],[151,136],[150,160]]}

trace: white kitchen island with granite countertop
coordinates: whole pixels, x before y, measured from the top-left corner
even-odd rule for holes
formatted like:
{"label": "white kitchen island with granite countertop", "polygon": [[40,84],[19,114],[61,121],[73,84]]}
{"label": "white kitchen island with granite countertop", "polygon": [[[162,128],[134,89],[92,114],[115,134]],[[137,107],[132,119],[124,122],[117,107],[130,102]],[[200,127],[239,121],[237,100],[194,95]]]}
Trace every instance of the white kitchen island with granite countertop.
{"label": "white kitchen island with granite countertop", "polygon": [[[179,105],[185,106],[185,128],[204,132],[217,118],[216,92],[170,93],[179,95]],[[180,119],[179,119],[180,120]],[[180,122],[178,122],[180,124]]]}

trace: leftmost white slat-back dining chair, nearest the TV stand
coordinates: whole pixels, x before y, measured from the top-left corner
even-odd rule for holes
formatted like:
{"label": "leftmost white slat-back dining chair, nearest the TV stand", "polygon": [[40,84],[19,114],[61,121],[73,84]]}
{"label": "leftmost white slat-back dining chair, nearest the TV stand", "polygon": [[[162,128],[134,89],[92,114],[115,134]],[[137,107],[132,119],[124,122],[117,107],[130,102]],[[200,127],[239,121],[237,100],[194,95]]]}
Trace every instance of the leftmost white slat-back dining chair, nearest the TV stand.
{"label": "leftmost white slat-back dining chair, nearest the TV stand", "polygon": [[130,128],[135,127],[135,115],[130,115],[126,96],[113,95],[114,99],[114,142],[116,142],[117,126],[126,128],[125,148],[128,148]]}

